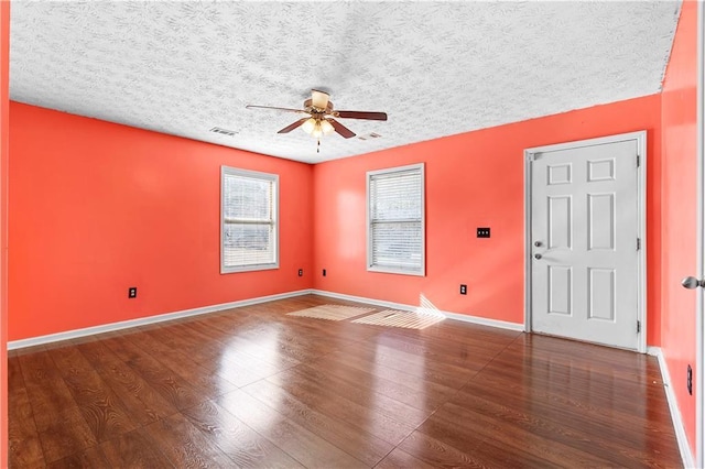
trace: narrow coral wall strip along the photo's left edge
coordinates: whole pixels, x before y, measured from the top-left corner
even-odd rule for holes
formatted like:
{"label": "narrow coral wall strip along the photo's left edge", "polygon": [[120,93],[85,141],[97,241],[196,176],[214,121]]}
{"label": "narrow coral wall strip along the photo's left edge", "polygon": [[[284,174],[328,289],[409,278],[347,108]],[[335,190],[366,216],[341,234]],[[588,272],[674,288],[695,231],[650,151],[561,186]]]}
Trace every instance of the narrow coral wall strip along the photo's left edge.
{"label": "narrow coral wall strip along the photo's left edge", "polygon": [[8,463],[8,110],[10,2],[0,2],[0,467]]}

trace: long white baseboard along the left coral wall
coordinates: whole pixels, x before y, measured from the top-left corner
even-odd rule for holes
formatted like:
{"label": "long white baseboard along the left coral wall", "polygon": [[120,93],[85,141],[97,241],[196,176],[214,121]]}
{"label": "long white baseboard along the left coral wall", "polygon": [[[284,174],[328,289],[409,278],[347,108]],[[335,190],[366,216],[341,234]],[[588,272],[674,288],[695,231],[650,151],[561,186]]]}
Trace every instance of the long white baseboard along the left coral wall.
{"label": "long white baseboard along the left coral wall", "polygon": [[100,326],[86,327],[84,329],[67,330],[65,332],[50,334],[46,336],[31,337],[29,339],[12,340],[8,342],[8,350],[21,349],[24,347],[40,346],[43,343],[58,342],[61,340],[76,339],[78,337],[93,336],[96,334],[110,332],[113,330],[129,329],[137,326],[163,323],[165,320],[178,319],[182,317],[197,316],[207,313],[220,312],[224,309],[237,308],[241,306],[256,305],[259,303],[273,302],[276,299],[291,298],[294,296],[308,295],[311,290],[300,290],[296,292],[281,293],[278,295],[259,296],[257,298],[240,299],[238,302],[221,303],[219,305],[203,306],[199,308],[184,309],[181,312],[165,313],[155,316],[141,317],[138,319],[121,320],[119,323],[104,324]]}

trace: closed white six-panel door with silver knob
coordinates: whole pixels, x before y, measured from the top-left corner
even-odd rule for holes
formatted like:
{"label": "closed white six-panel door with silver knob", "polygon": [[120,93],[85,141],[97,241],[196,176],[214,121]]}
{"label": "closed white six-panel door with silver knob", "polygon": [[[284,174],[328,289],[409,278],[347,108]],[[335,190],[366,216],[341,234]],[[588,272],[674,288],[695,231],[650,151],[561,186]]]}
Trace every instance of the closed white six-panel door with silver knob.
{"label": "closed white six-panel door with silver knob", "polygon": [[534,332],[640,349],[644,133],[528,151]]}

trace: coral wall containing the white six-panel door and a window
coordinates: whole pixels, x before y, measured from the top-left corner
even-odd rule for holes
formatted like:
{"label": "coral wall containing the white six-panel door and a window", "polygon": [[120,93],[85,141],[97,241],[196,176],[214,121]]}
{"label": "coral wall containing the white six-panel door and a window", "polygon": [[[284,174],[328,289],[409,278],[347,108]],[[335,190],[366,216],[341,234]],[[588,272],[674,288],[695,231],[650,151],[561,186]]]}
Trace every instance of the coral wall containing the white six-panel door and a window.
{"label": "coral wall containing the white six-panel door and a window", "polygon": [[[648,131],[648,262],[658,266],[660,120],[652,95],[317,164],[315,287],[523,323],[524,149],[638,130]],[[426,276],[367,272],[366,172],[412,163],[425,163]],[[477,239],[477,227],[491,238]],[[648,276],[659,284],[658,269]],[[659,345],[658,294],[648,293],[650,345]]]}

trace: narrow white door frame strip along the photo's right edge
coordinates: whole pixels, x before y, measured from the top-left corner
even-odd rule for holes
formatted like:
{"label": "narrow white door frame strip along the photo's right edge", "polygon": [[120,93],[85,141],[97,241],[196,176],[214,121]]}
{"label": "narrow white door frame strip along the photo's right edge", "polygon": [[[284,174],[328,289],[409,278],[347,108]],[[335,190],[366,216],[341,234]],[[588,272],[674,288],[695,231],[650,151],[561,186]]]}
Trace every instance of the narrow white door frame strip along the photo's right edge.
{"label": "narrow white door frame strip along the photo's right edge", "polygon": [[[705,109],[703,106],[703,99],[705,99],[705,65],[703,63],[703,54],[705,54],[705,7],[703,2],[697,2],[697,275],[699,279],[705,279],[705,204],[703,198],[705,197]],[[687,272],[684,275],[692,275]],[[705,320],[703,315],[705,314],[705,292],[703,288],[698,288],[696,296],[695,308],[695,460],[696,467],[705,467],[705,455],[703,450],[705,448]]]}

